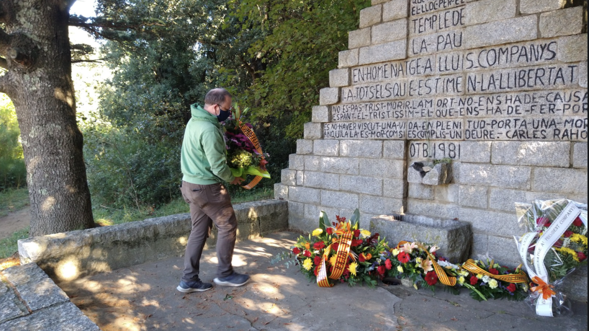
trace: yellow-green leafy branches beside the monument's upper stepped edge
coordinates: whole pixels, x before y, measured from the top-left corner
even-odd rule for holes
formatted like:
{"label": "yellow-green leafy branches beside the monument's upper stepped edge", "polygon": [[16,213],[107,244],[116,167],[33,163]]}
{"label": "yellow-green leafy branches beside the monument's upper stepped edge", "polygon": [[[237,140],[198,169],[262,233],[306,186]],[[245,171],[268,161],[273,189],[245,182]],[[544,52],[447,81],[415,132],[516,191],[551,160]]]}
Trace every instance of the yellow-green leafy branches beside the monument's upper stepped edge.
{"label": "yellow-green leafy branches beside the monument's upper stepped edge", "polygon": [[[250,39],[250,67],[264,68],[249,87],[241,87],[241,98],[252,107],[254,120],[289,117],[281,127],[287,138],[301,138],[303,124],[310,120],[312,105],[319,101],[320,88],[329,86],[329,70],[337,67],[339,51],[347,49],[348,33],[358,26],[366,0],[229,1],[231,14],[225,27],[237,18],[242,24],[238,37]],[[259,63],[261,62],[261,63]],[[233,72],[233,68],[223,72]],[[233,76],[223,77],[234,85]],[[238,88],[239,89],[239,88]]]}

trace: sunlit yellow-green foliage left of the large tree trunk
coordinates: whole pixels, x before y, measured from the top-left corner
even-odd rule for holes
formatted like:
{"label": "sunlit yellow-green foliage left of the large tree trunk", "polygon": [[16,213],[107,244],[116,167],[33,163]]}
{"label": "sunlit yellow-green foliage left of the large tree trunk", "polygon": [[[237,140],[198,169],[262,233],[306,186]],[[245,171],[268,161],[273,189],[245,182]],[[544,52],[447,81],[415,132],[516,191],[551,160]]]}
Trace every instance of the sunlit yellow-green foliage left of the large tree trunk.
{"label": "sunlit yellow-green foliage left of the large tree trunk", "polygon": [[14,105],[0,94],[0,190],[27,184],[20,134]]}

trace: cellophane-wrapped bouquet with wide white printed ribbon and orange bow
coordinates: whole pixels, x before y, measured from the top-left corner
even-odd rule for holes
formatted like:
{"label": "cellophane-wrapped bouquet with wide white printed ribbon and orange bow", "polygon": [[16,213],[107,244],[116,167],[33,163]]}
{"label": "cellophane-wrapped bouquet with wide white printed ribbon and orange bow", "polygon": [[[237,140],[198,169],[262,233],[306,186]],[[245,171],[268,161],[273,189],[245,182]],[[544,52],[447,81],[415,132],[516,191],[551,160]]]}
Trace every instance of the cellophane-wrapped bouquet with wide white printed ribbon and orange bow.
{"label": "cellophane-wrapped bouquet with wide white printed ribbon and orange bow", "polygon": [[516,211],[528,233],[515,241],[536,285],[528,302],[541,316],[568,313],[566,296],[558,286],[568,274],[587,264],[587,204],[567,199],[535,200],[516,204]]}

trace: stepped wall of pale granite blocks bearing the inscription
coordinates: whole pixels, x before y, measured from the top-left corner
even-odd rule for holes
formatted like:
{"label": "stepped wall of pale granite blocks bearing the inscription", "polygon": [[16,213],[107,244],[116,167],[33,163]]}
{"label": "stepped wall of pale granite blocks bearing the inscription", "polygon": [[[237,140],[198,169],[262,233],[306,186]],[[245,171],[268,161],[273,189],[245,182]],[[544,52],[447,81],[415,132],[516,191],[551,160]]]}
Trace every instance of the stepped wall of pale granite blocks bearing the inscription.
{"label": "stepped wall of pale granite blocks bearing the inscription", "polygon": [[[289,226],[355,208],[366,228],[458,219],[471,256],[518,264],[514,202],[587,202],[587,34],[582,7],[561,2],[373,0],[276,184]],[[440,159],[449,184],[409,168]]]}

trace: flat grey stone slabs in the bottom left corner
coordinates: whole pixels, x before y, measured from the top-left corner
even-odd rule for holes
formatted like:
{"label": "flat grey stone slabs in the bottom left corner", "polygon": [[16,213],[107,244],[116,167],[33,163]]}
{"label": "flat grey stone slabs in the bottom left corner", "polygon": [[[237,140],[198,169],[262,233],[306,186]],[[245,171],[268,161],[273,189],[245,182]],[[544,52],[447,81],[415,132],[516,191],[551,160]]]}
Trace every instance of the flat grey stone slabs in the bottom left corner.
{"label": "flat grey stone slabs in the bottom left corner", "polygon": [[100,331],[35,263],[0,272],[0,330]]}

